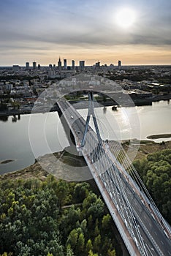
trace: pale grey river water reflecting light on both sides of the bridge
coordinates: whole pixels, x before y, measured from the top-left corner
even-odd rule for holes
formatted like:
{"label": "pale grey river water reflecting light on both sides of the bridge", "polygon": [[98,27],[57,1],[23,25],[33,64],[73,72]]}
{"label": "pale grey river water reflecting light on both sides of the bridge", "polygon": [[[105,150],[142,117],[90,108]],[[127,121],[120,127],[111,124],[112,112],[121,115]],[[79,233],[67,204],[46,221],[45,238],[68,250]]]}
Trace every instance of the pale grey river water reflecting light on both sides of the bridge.
{"label": "pale grey river water reflecting light on both sides of the bridge", "polygon": [[[87,110],[79,110],[86,118]],[[144,140],[148,135],[171,133],[171,104],[153,102],[151,106],[132,108],[96,108],[99,130],[103,139]],[[93,122],[91,120],[93,127]],[[19,120],[0,120],[0,174],[19,170],[34,163],[36,157],[61,151],[69,146],[58,113],[21,115]],[[170,139],[158,139],[157,142]],[[34,153],[33,153],[34,152]]]}

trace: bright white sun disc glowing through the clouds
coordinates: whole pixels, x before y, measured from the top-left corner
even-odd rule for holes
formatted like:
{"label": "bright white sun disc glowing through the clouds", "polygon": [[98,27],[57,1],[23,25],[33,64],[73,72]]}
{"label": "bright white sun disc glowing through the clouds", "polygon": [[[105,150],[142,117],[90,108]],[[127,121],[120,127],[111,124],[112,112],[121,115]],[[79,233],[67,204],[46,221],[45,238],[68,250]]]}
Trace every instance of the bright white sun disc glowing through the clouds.
{"label": "bright white sun disc glowing through the clouds", "polygon": [[136,14],[134,10],[129,8],[124,8],[118,11],[115,16],[116,23],[121,26],[123,29],[131,27],[135,20]]}

